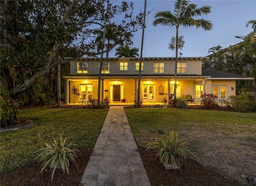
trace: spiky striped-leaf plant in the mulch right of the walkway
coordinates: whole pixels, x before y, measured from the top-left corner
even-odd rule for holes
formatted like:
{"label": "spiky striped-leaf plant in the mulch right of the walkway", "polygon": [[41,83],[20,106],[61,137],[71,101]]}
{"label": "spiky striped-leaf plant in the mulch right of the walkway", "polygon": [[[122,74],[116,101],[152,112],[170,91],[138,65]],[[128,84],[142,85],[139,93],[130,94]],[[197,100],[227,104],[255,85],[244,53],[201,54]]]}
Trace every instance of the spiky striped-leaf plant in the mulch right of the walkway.
{"label": "spiky striped-leaf plant in the mulch right of the walkway", "polygon": [[187,142],[186,140],[178,139],[176,132],[172,131],[168,135],[165,131],[164,136],[160,139],[148,143],[147,149],[153,149],[156,152],[156,156],[159,156],[166,169],[168,169],[168,165],[171,165],[172,169],[180,169],[180,172],[182,172],[181,165],[186,165],[188,155],[193,155],[186,146]]}

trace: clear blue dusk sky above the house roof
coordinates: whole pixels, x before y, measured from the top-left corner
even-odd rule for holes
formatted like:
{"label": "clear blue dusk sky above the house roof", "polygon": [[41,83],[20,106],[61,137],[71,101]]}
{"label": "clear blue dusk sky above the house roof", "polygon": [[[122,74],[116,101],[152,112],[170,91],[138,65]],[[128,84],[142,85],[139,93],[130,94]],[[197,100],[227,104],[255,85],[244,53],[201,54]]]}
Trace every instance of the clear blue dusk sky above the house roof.
{"label": "clear blue dusk sky above the house roof", "polygon": [[[127,1],[130,2],[130,1]],[[144,10],[144,0],[133,0],[134,13]],[[168,49],[168,43],[172,36],[175,36],[175,27],[157,25],[152,22],[154,14],[158,11],[170,10],[173,12],[174,0],[147,0],[146,28],[144,33],[144,47],[142,57],[175,57],[175,50]],[[201,18],[209,20],[213,24],[210,31],[204,31],[196,27],[180,27],[179,35],[184,36],[185,44],[181,53],[182,57],[205,57],[208,49],[220,45],[226,48],[241,42],[235,36],[242,36],[250,33],[252,28],[246,27],[249,20],[256,20],[256,0],[190,0],[190,3],[197,5],[197,8],[210,5],[211,13]],[[199,17],[197,17],[199,18]],[[134,33],[132,41],[140,49],[142,30]],[[179,51],[180,52],[180,51]],[[140,51],[139,51],[140,53]],[[114,57],[115,50],[112,50],[109,57]]]}

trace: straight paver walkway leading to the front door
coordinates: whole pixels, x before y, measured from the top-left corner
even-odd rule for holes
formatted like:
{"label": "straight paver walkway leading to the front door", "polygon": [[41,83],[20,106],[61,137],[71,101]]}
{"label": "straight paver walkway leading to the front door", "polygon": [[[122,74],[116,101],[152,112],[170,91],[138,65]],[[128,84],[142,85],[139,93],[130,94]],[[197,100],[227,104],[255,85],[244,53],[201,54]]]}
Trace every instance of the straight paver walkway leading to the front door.
{"label": "straight paver walkway leading to the front door", "polygon": [[81,184],[150,186],[123,106],[110,106]]}

